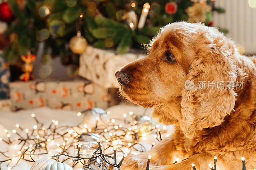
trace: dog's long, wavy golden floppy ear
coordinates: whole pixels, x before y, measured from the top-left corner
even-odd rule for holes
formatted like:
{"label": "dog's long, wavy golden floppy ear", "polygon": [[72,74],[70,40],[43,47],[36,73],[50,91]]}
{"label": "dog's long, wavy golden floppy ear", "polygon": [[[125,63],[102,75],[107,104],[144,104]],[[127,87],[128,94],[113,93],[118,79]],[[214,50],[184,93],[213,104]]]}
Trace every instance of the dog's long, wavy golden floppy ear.
{"label": "dog's long, wavy golden floppy ear", "polygon": [[[236,81],[232,41],[216,28],[202,27],[196,42],[196,56],[187,74],[187,83],[193,82],[194,87],[184,87],[181,94],[181,128],[189,138],[199,129],[220,125],[236,100],[234,89],[226,88],[227,83]],[[224,88],[218,87],[221,82],[225,82]]]}

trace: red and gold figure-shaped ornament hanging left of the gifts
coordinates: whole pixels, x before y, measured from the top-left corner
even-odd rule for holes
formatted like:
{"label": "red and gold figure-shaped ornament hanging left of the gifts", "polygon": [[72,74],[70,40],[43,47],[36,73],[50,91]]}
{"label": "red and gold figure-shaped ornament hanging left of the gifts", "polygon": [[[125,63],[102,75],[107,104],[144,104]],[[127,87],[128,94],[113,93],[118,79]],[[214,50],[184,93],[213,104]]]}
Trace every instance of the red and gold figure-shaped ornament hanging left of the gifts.
{"label": "red and gold figure-shaped ornament hanging left of the gifts", "polygon": [[22,81],[32,80],[34,78],[34,76],[31,74],[31,72],[33,70],[33,65],[31,63],[36,59],[36,55],[31,54],[30,52],[28,52],[27,55],[22,55],[21,59],[25,63],[22,66],[22,71],[24,73],[20,76],[20,79]]}

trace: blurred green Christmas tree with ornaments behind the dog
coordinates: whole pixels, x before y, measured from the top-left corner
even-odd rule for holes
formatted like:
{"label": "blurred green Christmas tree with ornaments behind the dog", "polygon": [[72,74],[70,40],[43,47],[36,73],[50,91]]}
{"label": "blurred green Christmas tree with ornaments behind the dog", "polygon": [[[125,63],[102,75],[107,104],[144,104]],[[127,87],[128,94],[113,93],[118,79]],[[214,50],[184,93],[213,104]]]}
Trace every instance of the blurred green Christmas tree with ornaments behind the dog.
{"label": "blurred green Christmas tree with ornaments behind the dog", "polygon": [[80,51],[71,48],[73,53],[68,48],[77,32],[79,36],[72,43],[80,41],[81,33],[81,43],[86,39],[96,48],[115,48],[117,53],[124,54],[130,48],[143,47],[166,24],[201,21],[211,26],[212,13],[225,11],[215,7],[214,0],[8,0],[7,3],[15,17],[5,19],[9,22],[5,34],[10,44],[3,55],[11,63],[28,52],[35,53],[38,43],[43,42],[44,55],[61,56],[63,63],[78,64],[77,54],[85,47]]}

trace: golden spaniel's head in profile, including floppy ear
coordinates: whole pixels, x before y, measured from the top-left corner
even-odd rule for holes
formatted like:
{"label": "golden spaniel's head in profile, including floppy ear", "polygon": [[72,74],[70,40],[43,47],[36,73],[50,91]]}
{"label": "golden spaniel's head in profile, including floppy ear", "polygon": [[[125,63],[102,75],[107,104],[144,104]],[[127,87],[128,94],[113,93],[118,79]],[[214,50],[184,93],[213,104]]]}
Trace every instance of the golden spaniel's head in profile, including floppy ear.
{"label": "golden spaniel's head in profile, including floppy ear", "polygon": [[143,107],[179,101],[177,119],[192,137],[196,129],[220,125],[233,109],[234,90],[217,86],[236,81],[234,53],[233,42],[214,27],[172,23],[152,40],[146,57],[124,66],[116,78],[121,93]]}

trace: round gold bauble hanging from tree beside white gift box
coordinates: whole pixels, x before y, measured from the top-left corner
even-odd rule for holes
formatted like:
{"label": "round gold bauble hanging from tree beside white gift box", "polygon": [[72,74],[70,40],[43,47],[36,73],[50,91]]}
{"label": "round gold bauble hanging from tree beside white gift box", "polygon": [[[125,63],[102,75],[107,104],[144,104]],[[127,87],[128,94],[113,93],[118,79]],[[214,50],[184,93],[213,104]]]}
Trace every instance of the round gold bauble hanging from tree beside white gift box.
{"label": "round gold bauble hanging from tree beside white gift box", "polygon": [[87,48],[87,41],[78,31],[77,35],[72,37],[69,41],[69,48],[75,54],[82,54]]}

